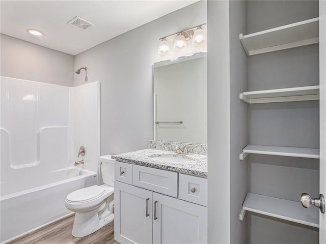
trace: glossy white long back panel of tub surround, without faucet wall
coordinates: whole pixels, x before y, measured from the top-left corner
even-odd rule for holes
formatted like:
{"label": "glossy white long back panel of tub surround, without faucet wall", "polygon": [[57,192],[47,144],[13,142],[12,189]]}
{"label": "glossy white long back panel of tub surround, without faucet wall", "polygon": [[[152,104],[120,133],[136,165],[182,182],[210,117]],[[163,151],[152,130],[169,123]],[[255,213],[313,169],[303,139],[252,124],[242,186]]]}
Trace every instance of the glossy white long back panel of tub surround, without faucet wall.
{"label": "glossy white long back panel of tub surround, without faucet wall", "polygon": [[69,87],[1,77],[1,194],[69,166]]}

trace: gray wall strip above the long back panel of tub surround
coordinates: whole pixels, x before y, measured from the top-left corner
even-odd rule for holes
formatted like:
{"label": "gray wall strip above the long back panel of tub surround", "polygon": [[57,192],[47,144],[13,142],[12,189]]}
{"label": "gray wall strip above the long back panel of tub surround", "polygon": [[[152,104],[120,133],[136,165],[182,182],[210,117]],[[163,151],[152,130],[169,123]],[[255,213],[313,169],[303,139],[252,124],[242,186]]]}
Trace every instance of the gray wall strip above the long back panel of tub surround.
{"label": "gray wall strip above the long back panel of tub surround", "polygon": [[1,34],[1,75],[73,85],[72,55]]}

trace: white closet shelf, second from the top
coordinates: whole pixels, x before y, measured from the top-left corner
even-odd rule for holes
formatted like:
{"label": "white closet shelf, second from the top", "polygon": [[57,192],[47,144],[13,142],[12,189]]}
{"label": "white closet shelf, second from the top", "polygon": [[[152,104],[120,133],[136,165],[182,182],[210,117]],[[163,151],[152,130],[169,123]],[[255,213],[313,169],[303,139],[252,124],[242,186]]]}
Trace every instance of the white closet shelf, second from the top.
{"label": "white closet shelf, second from the top", "polygon": [[319,100],[319,85],[240,93],[246,103],[277,103]]}

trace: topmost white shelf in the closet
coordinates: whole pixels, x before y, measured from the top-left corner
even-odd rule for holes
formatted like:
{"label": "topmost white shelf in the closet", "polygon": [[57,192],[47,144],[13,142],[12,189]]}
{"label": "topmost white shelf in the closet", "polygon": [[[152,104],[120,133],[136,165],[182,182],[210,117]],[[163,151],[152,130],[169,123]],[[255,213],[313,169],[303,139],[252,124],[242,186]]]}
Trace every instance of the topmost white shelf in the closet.
{"label": "topmost white shelf in the closet", "polygon": [[248,56],[318,43],[319,18],[239,35]]}

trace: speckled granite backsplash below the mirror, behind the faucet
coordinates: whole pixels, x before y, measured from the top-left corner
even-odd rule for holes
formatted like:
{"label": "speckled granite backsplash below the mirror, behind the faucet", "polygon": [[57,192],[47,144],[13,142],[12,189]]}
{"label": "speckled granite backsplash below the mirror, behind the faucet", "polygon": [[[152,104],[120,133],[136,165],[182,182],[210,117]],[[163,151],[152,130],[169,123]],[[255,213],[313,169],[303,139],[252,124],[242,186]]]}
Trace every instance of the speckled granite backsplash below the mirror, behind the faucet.
{"label": "speckled granite backsplash below the mirror, behind the faucet", "polygon": [[176,146],[183,149],[187,145],[189,145],[189,147],[188,147],[189,154],[207,155],[207,144],[148,140],[147,148],[157,149],[157,150],[174,151],[174,148]]}

